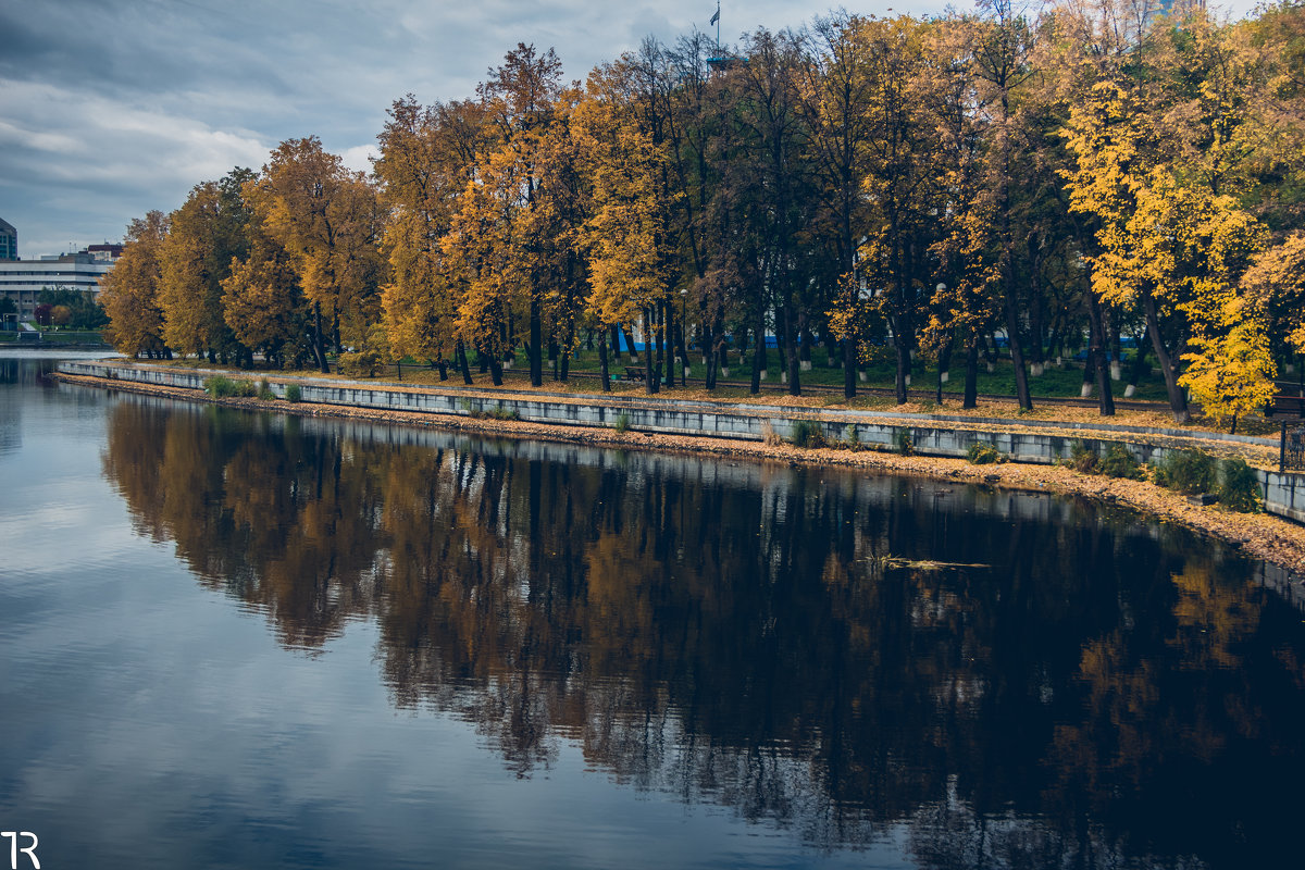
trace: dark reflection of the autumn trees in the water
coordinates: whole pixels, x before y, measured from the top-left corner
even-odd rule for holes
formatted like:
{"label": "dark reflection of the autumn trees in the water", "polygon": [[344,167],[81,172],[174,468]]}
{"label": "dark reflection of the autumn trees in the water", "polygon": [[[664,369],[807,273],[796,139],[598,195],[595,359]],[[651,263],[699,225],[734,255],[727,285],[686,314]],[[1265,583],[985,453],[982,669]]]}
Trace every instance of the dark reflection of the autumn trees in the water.
{"label": "dark reflection of the autumn trees in the water", "polygon": [[393,703],[518,776],[572,741],[619,783],[934,867],[1293,847],[1300,614],[1133,515],[138,398],[103,463],[287,647],[375,621]]}

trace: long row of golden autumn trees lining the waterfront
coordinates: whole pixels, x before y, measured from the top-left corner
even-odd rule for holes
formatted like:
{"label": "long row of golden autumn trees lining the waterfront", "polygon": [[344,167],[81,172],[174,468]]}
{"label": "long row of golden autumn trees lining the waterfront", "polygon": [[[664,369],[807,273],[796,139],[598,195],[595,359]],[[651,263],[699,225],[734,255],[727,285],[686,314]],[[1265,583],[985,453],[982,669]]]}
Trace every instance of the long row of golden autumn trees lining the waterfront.
{"label": "long row of golden autumn trees lining the waterfront", "polygon": [[[861,18],[701,34],[562,78],[521,44],[476,95],[393,104],[373,172],[316,137],[132,223],[102,293],[115,344],[271,365],[354,348],[542,383],[646,342],[647,389],[690,346],[752,389],[774,337],[801,390],[843,369],[947,370],[964,402],[1009,346],[1019,403],[1049,359],[1138,340],[1173,413],[1244,413],[1305,352],[1305,9],[1227,23],[1150,0],[1036,16]],[[752,350],[748,353],[749,348]],[[472,360],[475,363],[472,364]]]}

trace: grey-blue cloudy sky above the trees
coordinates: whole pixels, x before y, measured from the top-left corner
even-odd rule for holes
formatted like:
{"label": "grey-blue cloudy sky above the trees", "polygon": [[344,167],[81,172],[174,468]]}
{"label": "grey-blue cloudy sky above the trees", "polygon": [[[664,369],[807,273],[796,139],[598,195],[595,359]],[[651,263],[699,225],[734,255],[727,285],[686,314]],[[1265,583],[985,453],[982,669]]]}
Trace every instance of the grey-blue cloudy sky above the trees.
{"label": "grey-blue cloudy sky above the trees", "polygon": [[[842,5],[925,14],[946,0]],[[799,27],[825,8],[724,0],[722,37]],[[290,137],[316,134],[368,168],[385,111],[406,93],[470,97],[518,42],[553,46],[566,76],[583,78],[645,35],[709,30],[714,10],[714,0],[0,1],[0,218],[34,258],[120,240],[132,218],[176,209],[234,166],[258,168]]]}

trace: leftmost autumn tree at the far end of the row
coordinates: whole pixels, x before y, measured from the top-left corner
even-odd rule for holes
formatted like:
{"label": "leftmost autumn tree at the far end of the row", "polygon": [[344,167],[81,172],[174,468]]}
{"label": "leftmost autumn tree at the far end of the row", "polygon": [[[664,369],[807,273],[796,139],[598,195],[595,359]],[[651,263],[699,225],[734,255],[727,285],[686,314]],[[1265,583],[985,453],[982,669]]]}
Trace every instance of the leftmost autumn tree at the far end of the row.
{"label": "leftmost autumn tree at the far end of the row", "polygon": [[150,211],[127,227],[123,256],[100,278],[99,301],[108,314],[106,338],[123,353],[150,359],[171,356],[163,340],[159,290],[163,282],[162,252],[168,219]]}

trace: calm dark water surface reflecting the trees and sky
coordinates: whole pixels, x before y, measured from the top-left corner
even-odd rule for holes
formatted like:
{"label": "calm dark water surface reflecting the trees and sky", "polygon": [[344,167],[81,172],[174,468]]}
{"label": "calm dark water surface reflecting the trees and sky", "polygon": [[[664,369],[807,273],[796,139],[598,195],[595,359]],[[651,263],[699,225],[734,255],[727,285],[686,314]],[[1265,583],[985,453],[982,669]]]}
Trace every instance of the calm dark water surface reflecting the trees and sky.
{"label": "calm dark water surface reflecting the trees and sky", "polygon": [[1181,530],[50,365],[0,359],[43,869],[1300,866],[1302,614]]}

